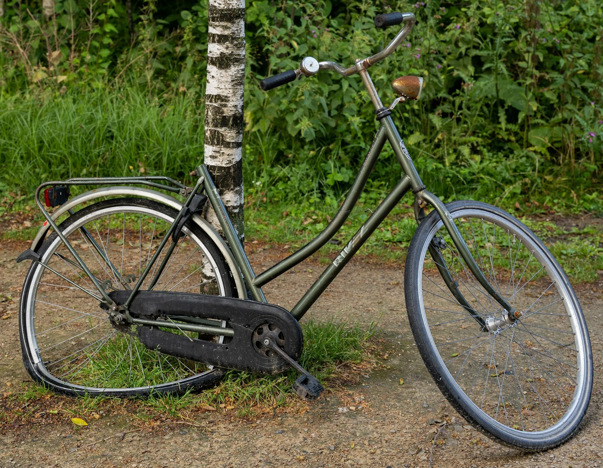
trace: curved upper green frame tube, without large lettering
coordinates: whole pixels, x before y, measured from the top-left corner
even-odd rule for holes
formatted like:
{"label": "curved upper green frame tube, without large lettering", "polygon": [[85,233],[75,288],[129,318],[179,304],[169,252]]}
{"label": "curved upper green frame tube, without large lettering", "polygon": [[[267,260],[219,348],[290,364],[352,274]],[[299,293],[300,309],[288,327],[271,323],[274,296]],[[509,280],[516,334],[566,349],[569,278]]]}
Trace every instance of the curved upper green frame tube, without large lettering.
{"label": "curved upper green frame tube, without large lettering", "polygon": [[254,286],[264,286],[269,281],[273,280],[277,276],[280,276],[280,274],[285,273],[285,271],[289,270],[289,268],[293,268],[295,265],[303,262],[315,251],[323,247],[324,244],[329,242],[329,239],[335,235],[341,226],[343,226],[343,223],[347,220],[347,217],[349,217],[350,213],[352,212],[356,201],[358,201],[358,197],[360,197],[362,189],[364,189],[364,185],[367,183],[368,176],[370,176],[370,173],[377,162],[377,158],[379,157],[379,154],[385,145],[386,139],[387,133],[385,131],[385,127],[384,125],[381,125],[375,134],[373,143],[368,150],[367,156],[364,158],[364,162],[362,162],[362,166],[356,175],[356,179],[354,179],[354,182],[352,183],[352,187],[350,187],[350,191],[348,192],[346,199],[343,201],[343,204],[341,204],[341,207],[339,208],[335,217],[333,217],[330,223],[327,224],[327,227],[323,230],[323,232],[318,234],[314,239],[308,242],[308,244],[301,247],[300,250],[292,253],[273,267],[270,267],[268,270],[257,275],[253,280]]}

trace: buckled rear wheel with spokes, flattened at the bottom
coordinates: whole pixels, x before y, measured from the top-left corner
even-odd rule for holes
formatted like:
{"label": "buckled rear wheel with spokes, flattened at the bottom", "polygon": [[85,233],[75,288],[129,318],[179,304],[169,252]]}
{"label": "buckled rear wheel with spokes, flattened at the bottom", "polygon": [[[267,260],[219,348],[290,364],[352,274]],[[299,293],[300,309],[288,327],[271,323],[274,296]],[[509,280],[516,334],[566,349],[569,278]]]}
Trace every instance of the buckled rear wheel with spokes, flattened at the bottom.
{"label": "buckled rear wheel with spokes, flattened at the bottom", "polygon": [[[107,291],[131,289],[176,215],[156,201],[118,198],[84,207],[59,229]],[[56,233],[38,253],[41,260],[28,271],[19,314],[23,360],[35,381],[61,393],[124,397],[182,393],[223,377],[221,369],[147,349],[136,326],[109,320],[89,294],[98,291]],[[148,289],[154,273],[151,268],[141,289]],[[233,285],[216,245],[188,224],[153,290],[232,296]]]}

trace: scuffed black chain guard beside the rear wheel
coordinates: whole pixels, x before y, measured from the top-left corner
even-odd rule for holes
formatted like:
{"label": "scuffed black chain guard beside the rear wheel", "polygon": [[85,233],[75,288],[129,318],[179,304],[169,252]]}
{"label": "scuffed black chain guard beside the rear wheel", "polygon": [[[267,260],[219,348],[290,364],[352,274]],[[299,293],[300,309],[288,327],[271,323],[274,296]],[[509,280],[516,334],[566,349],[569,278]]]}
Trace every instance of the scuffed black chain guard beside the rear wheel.
{"label": "scuffed black chain guard beside the rear wheel", "polygon": [[[130,296],[130,291],[112,291],[109,296],[121,305]],[[273,304],[209,294],[139,291],[129,309],[133,317],[140,318],[186,315],[225,320],[235,335],[232,339],[224,337],[224,343],[197,340],[157,327],[138,326],[139,340],[148,349],[159,349],[164,354],[207,365],[265,374],[288,369],[289,364],[284,359],[276,353],[265,352],[261,344],[256,343],[257,329],[262,327],[279,330],[282,333],[279,346],[296,361],[303,347],[297,320],[286,309]]]}

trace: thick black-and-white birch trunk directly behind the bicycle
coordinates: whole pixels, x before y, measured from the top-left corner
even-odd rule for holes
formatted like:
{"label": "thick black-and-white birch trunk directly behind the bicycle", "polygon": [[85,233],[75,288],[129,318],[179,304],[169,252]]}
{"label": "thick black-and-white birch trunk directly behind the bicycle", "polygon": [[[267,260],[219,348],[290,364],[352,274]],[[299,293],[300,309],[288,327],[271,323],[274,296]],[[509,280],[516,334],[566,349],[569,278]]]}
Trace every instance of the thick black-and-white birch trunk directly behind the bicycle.
{"label": "thick black-and-white birch trunk directly behind the bicycle", "polygon": [[[209,0],[204,163],[241,241],[245,0]],[[210,207],[207,220],[220,231]]]}

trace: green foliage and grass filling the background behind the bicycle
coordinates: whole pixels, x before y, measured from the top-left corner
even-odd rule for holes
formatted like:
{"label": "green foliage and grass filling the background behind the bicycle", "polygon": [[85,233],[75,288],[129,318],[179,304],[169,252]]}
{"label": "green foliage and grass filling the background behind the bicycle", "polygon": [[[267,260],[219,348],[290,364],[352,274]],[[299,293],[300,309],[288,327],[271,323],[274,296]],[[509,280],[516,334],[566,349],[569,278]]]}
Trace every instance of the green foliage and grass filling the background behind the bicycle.
{"label": "green foliage and grass filling the background behind the bicycle", "polygon": [[[321,206],[341,198],[377,125],[359,76],[320,72],[270,92],[258,82],[297,68],[307,55],[348,66],[373,54],[397,31],[375,28],[373,17],[396,10],[413,11],[417,25],[370,74],[386,104],[394,98],[393,78],[425,78],[421,100],[400,103],[394,121],[431,191],[446,200],[601,210],[603,8],[595,0],[248,2],[247,194],[271,201],[301,194]],[[6,2],[0,162],[17,165],[2,182],[31,191],[50,173],[121,175],[140,161],[150,172],[178,176],[194,166],[203,153],[206,1],[175,8],[146,1],[132,21],[130,31],[118,0],[93,7],[57,1],[48,18],[38,3]],[[125,96],[121,109],[118,96]],[[53,121],[61,107],[65,120]],[[175,113],[164,115],[166,108]],[[119,121],[111,132],[92,122],[107,110]],[[117,110],[127,114],[123,120]],[[29,120],[13,133],[19,114]],[[80,132],[85,140],[75,138],[80,124],[98,127],[95,138],[89,131]],[[174,125],[185,132],[183,141],[171,138]],[[58,136],[63,127],[66,138]],[[119,133],[128,136],[119,141]],[[146,142],[148,134],[154,143]],[[161,141],[161,134],[168,138]],[[22,170],[24,179],[16,177]],[[399,176],[386,145],[371,183],[387,189]]]}

